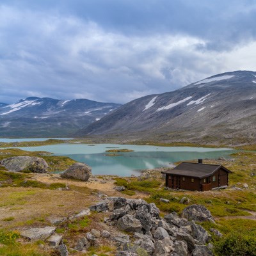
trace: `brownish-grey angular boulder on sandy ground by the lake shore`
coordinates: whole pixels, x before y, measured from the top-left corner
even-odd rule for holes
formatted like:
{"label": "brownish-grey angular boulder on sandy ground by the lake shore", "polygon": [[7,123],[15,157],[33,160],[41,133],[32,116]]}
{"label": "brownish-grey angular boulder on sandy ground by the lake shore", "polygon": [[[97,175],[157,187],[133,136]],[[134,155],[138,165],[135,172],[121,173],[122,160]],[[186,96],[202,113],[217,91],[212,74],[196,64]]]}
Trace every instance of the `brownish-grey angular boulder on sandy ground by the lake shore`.
{"label": "brownish-grey angular boulder on sandy ground by the lake shore", "polygon": [[61,173],[61,177],[65,179],[77,179],[87,181],[92,175],[92,168],[84,163],[74,163],[65,172]]}

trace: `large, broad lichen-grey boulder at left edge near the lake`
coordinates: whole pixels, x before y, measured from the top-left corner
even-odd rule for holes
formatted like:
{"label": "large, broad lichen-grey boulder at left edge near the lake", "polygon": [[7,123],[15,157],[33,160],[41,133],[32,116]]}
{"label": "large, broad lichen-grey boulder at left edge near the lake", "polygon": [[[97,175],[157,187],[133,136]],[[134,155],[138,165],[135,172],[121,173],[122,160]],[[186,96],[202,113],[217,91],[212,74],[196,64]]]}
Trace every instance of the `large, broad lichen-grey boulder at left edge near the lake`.
{"label": "large, broad lichen-grey boulder at left edge near the lake", "polygon": [[47,172],[48,164],[42,157],[15,156],[3,159],[2,164],[10,172]]}

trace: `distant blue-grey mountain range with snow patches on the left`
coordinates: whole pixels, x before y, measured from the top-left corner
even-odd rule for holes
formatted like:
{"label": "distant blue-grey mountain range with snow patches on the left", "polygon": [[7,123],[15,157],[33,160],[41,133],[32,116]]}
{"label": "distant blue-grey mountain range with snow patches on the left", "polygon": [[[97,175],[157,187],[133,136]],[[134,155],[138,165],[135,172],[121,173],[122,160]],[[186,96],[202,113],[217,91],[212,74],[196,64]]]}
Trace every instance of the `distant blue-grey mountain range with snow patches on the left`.
{"label": "distant blue-grey mountain range with snow patches on the left", "polygon": [[29,97],[15,104],[0,105],[0,136],[68,136],[119,106],[87,99]]}

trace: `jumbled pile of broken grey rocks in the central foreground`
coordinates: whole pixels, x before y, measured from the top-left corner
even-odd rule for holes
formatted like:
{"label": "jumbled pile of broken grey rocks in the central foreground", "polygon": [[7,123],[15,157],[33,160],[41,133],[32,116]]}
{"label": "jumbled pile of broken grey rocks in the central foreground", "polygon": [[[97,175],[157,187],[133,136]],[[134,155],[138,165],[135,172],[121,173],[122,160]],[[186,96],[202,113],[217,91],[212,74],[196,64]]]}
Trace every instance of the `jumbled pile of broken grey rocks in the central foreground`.
{"label": "jumbled pile of broken grey rocks in the central foreground", "polygon": [[212,255],[209,247],[205,246],[211,236],[202,226],[195,221],[180,218],[176,212],[161,218],[156,205],[147,204],[145,200],[109,197],[90,209],[111,212],[109,218],[105,219],[106,224],[132,232],[133,239],[127,235],[109,237],[118,246],[116,256]]}

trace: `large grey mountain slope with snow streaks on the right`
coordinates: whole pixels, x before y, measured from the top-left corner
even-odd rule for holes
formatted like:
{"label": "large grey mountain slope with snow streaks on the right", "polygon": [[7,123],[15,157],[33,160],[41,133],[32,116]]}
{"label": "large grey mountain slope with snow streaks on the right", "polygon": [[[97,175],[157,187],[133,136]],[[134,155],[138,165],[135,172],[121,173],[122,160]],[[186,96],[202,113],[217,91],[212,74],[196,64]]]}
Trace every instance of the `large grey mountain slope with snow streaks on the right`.
{"label": "large grey mountain slope with snow streaks on the right", "polygon": [[237,144],[256,142],[255,125],[256,72],[235,71],[132,100],[77,134]]}

